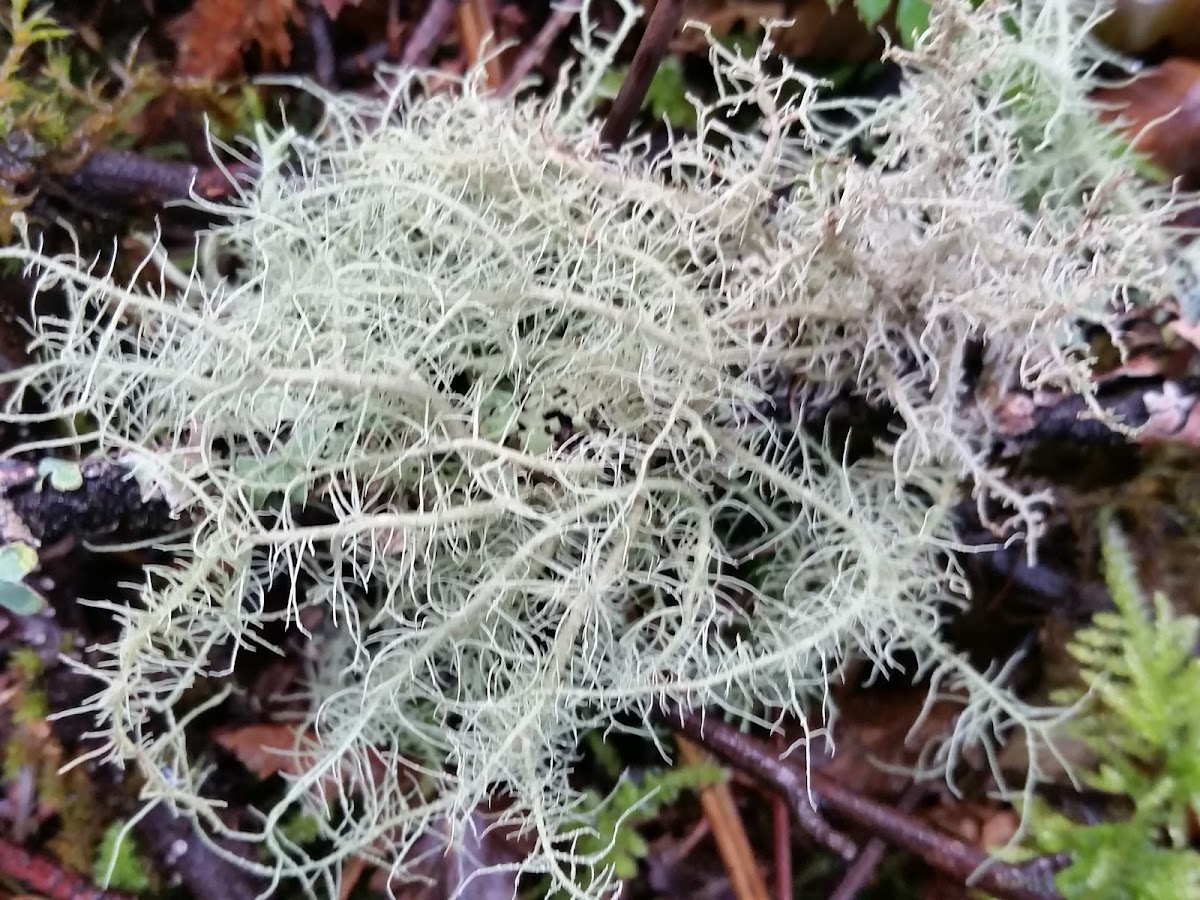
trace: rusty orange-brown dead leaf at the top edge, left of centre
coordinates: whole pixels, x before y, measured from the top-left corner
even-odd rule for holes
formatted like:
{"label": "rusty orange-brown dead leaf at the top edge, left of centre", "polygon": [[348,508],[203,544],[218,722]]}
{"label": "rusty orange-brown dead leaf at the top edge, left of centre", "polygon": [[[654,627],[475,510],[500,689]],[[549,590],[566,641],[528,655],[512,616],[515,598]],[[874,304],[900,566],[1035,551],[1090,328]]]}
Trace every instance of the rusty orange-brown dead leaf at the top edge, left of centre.
{"label": "rusty orange-brown dead leaf at the top edge, left of centre", "polygon": [[295,0],[196,0],[170,25],[179,72],[220,79],[241,71],[241,54],[257,44],[264,66],[292,61],[288,25],[299,16]]}

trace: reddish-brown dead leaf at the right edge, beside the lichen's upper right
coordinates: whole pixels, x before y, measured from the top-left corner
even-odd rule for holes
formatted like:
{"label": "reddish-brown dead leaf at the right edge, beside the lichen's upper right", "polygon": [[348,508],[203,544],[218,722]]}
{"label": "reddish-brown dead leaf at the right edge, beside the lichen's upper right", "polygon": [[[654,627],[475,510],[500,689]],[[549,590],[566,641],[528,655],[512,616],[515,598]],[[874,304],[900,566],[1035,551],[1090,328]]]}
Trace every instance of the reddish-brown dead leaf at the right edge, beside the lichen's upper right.
{"label": "reddish-brown dead leaf at the right edge, beside the lichen's upper right", "polygon": [[1200,62],[1169,59],[1128,84],[1096,92],[1134,146],[1200,186]]}

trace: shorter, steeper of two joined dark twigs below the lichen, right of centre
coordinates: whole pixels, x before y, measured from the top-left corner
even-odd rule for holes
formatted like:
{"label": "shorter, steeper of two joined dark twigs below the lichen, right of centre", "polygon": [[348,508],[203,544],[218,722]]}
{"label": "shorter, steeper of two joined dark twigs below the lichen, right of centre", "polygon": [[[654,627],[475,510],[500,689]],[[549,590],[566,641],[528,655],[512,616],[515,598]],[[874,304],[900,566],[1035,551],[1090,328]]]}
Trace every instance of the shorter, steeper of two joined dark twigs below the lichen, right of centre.
{"label": "shorter, steeper of two joined dark twigs below the lichen, right of centre", "polygon": [[791,804],[796,821],[814,840],[844,859],[853,859],[858,847],[850,838],[829,827],[812,805],[804,778],[780,762],[772,750],[715,718],[706,721],[678,704],[664,706],[664,714],[667,725],[782,794]]}

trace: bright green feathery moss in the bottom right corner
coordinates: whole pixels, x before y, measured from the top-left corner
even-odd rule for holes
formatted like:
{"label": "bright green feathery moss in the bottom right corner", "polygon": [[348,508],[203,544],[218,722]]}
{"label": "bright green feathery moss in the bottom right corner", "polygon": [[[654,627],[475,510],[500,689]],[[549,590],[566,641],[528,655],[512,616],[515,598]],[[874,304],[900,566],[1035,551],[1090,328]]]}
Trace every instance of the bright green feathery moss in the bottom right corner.
{"label": "bright green feathery moss in the bottom right corner", "polygon": [[1102,523],[1104,576],[1116,610],[1098,613],[1069,649],[1082,701],[1070,731],[1096,757],[1085,784],[1132,806],[1128,818],[1084,824],[1034,804],[1033,845],[1067,852],[1057,877],[1067,898],[1200,895],[1200,618],[1178,616],[1163,594],[1147,598],[1133,554],[1110,515]]}

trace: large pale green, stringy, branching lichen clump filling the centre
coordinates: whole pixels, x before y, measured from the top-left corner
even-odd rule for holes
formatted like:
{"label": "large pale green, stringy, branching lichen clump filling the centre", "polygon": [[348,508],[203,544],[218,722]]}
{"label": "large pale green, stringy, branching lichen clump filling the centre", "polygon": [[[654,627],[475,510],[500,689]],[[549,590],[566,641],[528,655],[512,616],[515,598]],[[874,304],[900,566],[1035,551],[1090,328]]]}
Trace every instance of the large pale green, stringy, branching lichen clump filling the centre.
{"label": "large pale green, stringy, branching lichen clump filling the centre", "polygon": [[[1042,503],[988,467],[965,354],[979,392],[1087,391],[1076,326],[1165,289],[1182,199],[1102,140],[1073,4],[935,6],[901,92],[852,127],[769,44],[714,47],[721,98],[653,161],[598,145],[586,78],[515,103],[398,73],[323,97],[314,137],[260,136],[262,174],[217,209],[232,278],[4,251],[70,310],[38,322],[18,400],[86,413],[194,526],[142,605],[107,607],[96,755],[227,832],[185,691],[305,606],[313,764],[242,836],[322,896],[353,854],[402,874],[434,817],[497,792],[535,838],[524,869],[577,892],[578,737],[661,698],[803,716],[847,660],[911,648],[965,703],[934,763],[1012,725],[1039,742],[1049,714],[938,637],[961,479],[1033,535]],[[745,107],[762,128],[731,131]],[[904,425],[844,464],[763,414],[780,373]],[[281,836],[298,805],[319,858]]]}

